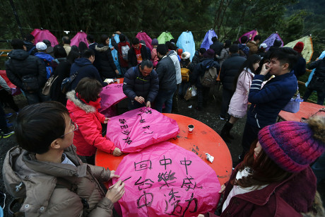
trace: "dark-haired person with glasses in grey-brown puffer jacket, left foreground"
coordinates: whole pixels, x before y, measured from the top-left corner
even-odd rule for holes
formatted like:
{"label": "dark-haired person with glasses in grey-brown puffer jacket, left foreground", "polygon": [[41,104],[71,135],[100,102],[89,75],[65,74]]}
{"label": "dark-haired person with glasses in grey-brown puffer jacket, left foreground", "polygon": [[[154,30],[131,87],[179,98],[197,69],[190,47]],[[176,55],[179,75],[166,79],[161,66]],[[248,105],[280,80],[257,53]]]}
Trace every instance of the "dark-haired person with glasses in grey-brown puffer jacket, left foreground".
{"label": "dark-haired person with glasses in grey-brown puffer jacket, left foreground", "polygon": [[8,151],[3,167],[6,191],[24,199],[19,214],[112,216],[113,204],[124,194],[124,183],[117,182],[105,193],[100,182],[119,175],[82,163],[72,144],[76,132],[78,126],[60,102],[28,105],[19,112],[18,146]]}

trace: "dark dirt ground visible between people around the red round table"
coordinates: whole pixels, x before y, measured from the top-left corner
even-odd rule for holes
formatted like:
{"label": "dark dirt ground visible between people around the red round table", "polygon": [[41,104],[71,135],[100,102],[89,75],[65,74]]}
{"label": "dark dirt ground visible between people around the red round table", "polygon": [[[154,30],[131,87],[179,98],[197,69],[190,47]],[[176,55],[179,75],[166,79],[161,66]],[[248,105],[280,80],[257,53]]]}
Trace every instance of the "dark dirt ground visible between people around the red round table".
{"label": "dark dirt ground visible between people around the red round table", "polygon": [[[184,99],[179,100],[179,115],[184,115],[188,117],[192,117],[194,119],[199,120],[200,122],[203,122],[204,124],[211,127],[213,130],[215,130],[218,134],[220,134],[221,129],[223,128],[223,125],[225,124],[225,120],[220,120],[219,113],[220,113],[220,106],[221,106],[221,94],[222,90],[218,90],[218,88],[215,88],[214,91],[211,92],[210,99],[206,105],[206,107],[203,108],[202,111],[195,110],[196,107],[196,99],[185,101]],[[214,95],[214,96],[213,96]],[[25,100],[25,97],[23,95],[15,96],[15,101],[18,104],[18,107],[22,108],[23,106],[27,105],[27,101]],[[119,113],[126,111],[126,102],[122,101],[118,105]],[[6,113],[12,112],[11,109],[6,108]],[[13,115],[13,117],[10,118],[11,122],[14,124],[16,119],[16,115]],[[232,155],[232,162],[236,162],[238,159],[238,156],[242,152],[242,147],[240,145],[242,141],[242,132],[244,131],[244,124],[246,122],[246,117],[243,119],[240,119],[235,126],[232,128],[232,135],[235,136],[235,139],[232,140],[231,143],[227,143],[228,148],[230,150],[230,153]],[[4,163],[4,158],[6,156],[6,152],[12,148],[13,146],[16,146],[16,138],[15,136],[11,136],[7,139],[0,139],[0,167],[2,168],[2,165]],[[0,190],[1,192],[6,192],[6,189],[4,188],[4,182],[2,179],[2,173],[0,175]],[[323,180],[319,186],[318,191],[321,194],[321,197],[323,201],[325,200],[325,180]],[[11,201],[10,195],[7,194],[6,199],[6,205]],[[4,216],[6,216],[6,209],[4,210]]]}

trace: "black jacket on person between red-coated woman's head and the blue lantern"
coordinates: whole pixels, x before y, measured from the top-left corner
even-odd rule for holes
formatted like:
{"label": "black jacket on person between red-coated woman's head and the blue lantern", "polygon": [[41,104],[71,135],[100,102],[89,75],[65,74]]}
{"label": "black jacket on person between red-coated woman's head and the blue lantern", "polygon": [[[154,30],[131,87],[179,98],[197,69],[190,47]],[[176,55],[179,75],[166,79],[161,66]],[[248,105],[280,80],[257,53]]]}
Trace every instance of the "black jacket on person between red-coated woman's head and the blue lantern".
{"label": "black jacket on person between red-coated woman's head and the blue lantern", "polygon": [[[104,47],[104,45],[99,45],[98,47]],[[98,56],[100,58],[100,75],[103,78],[116,78],[115,70],[117,66],[114,64],[111,49],[107,49],[105,52],[98,52]]]}

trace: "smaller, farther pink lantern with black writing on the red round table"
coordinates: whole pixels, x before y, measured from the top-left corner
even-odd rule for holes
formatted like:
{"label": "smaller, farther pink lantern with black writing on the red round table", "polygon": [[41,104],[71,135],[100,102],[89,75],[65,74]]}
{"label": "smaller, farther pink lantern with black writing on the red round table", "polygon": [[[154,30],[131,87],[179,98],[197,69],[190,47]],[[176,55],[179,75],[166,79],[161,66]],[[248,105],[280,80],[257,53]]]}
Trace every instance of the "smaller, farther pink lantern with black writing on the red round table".
{"label": "smaller, farther pink lantern with black writing on the red round table", "polygon": [[133,153],[178,134],[174,119],[150,107],[141,107],[112,117],[107,124],[106,137],[123,153]]}

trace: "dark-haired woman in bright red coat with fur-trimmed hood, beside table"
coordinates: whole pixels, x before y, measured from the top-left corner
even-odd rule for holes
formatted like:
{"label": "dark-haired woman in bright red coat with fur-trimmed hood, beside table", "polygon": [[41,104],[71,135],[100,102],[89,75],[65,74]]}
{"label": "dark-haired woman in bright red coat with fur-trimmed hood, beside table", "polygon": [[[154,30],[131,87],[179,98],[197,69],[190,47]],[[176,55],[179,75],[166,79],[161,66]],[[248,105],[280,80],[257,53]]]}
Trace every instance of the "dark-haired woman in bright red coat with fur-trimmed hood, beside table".
{"label": "dark-haired woman in bright red coat with fur-trimmed hood, beside table", "polygon": [[72,121],[79,127],[73,136],[73,144],[77,147],[77,154],[85,156],[87,163],[93,165],[97,148],[114,156],[122,155],[121,150],[115,147],[112,141],[102,136],[102,124],[107,124],[109,118],[98,112],[101,90],[99,81],[83,78],[76,90],[66,93],[66,108]]}

